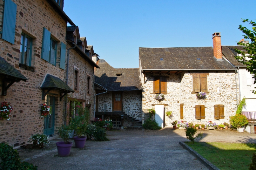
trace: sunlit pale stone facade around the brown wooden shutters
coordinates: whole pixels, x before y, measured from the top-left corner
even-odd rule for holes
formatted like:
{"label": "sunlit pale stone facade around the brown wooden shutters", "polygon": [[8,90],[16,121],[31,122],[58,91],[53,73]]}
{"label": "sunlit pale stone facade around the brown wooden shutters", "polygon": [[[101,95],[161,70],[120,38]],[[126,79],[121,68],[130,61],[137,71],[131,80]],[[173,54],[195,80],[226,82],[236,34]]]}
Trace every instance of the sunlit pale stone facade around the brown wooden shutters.
{"label": "sunlit pale stone facade around the brown wooden shutters", "polygon": [[[192,73],[192,72],[190,72]],[[183,103],[183,121],[193,122],[194,124],[206,124],[208,121],[213,121],[216,124],[222,124],[229,122],[229,116],[235,114],[236,110],[236,93],[239,96],[239,89],[236,89],[236,80],[234,71],[218,71],[208,72],[208,94],[205,100],[197,100],[196,94],[191,94],[193,91],[193,76],[187,71],[176,75],[176,74],[162,74],[161,76],[168,76],[167,78],[167,94],[164,95],[164,101],[155,100],[153,94],[153,77],[151,75],[157,74],[146,74],[146,84],[142,82],[142,109],[154,108],[154,104],[167,104],[165,106],[166,111],[172,111],[173,116],[168,117],[165,115],[166,127],[171,126],[171,122],[177,120],[180,121],[180,104]],[[195,72],[200,73],[200,72]],[[206,73],[206,72],[204,72]],[[144,75],[142,74],[142,80]],[[238,79],[237,79],[238,82]],[[220,92],[217,93],[217,87],[220,87]],[[238,86],[237,86],[238,87]],[[237,91],[236,91],[237,90]],[[153,105],[152,105],[153,104]],[[205,119],[195,119],[195,105],[204,105],[205,108]],[[214,105],[223,104],[225,118],[216,120],[214,119]]]}

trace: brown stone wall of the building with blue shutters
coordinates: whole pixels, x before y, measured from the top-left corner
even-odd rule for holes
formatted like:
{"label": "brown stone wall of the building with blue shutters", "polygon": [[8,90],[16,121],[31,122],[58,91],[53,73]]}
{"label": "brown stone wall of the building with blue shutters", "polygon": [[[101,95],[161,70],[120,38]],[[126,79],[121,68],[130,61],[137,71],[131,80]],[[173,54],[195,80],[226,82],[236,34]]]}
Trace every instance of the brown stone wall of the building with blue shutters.
{"label": "brown stone wall of the building with blue shutters", "polygon": [[[0,95],[0,102],[7,101],[13,106],[11,120],[0,120],[0,142],[18,146],[27,143],[34,133],[43,132],[43,119],[40,118],[42,90],[40,86],[46,74],[52,74],[65,81],[65,70],[59,68],[60,42],[66,43],[66,21],[48,4],[46,0],[14,1],[17,4],[14,45],[0,39],[0,56],[8,61],[29,79],[14,83],[7,96]],[[4,2],[0,1],[0,25],[2,25]],[[58,41],[56,66],[41,59],[43,27]],[[0,27],[2,31],[2,27]],[[21,33],[33,38],[32,66],[35,72],[19,68]],[[0,34],[1,38],[1,34]],[[2,83],[2,81],[0,81]],[[55,93],[51,91],[51,93]],[[59,95],[59,93],[55,93]],[[55,128],[61,123],[63,102],[56,100]],[[55,134],[57,131],[55,131]]]}

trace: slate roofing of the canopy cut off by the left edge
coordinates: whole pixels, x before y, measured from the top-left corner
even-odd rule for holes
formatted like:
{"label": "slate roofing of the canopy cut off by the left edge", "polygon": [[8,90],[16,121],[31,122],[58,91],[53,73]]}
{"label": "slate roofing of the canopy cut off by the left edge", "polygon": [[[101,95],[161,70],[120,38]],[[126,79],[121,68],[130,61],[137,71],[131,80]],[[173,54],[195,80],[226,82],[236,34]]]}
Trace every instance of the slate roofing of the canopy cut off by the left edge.
{"label": "slate roofing of the canopy cut off by the left edge", "polygon": [[10,63],[8,63],[4,58],[0,57],[0,74],[12,77],[18,80],[26,81],[28,80],[23,74],[21,74],[17,69],[15,69]]}

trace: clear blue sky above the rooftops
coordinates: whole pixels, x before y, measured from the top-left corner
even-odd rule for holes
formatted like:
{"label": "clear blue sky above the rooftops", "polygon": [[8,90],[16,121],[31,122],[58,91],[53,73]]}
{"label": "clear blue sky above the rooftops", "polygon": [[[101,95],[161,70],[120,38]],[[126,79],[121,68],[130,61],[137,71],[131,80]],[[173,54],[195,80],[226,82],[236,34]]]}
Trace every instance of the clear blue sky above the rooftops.
{"label": "clear blue sky above the rooftops", "polygon": [[[209,47],[243,38],[237,29],[256,19],[256,0],[65,0],[64,12],[79,26],[100,59],[114,68],[139,67],[139,47]],[[249,27],[249,26],[248,26]]]}

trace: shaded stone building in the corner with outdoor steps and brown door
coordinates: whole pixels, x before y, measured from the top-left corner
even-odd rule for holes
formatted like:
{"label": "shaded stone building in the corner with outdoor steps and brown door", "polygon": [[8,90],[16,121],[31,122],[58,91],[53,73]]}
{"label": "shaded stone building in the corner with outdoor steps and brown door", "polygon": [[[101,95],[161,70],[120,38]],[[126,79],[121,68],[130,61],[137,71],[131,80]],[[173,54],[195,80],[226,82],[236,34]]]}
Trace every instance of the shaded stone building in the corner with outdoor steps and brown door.
{"label": "shaded stone building in the corner with outdoor steps and brown door", "polygon": [[[96,60],[95,60],[96,61]],[[141,127],[142,125],[142,86],[139,68],[113,68],[104,59],[97,59],[95,83],[95,117],[110,118],[114,129]],[[106,93],[105,93],[106,92]],[[102,93],[102,94],[101,94]]]}

